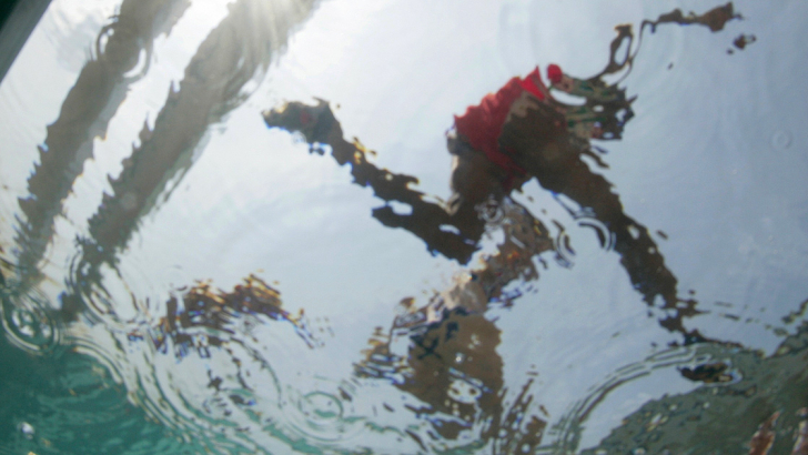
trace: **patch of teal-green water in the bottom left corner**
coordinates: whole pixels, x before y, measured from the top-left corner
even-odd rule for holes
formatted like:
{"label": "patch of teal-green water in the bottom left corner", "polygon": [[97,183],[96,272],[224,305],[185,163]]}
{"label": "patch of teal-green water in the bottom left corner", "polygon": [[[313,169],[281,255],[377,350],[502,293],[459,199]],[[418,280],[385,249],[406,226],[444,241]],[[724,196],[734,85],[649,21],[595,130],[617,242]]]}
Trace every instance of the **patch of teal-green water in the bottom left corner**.
{"label": "patch of teal-green water in the bottom left corner", "polygon": [[0,454],[186,453],[87,355],[32,356],[0,336]]}

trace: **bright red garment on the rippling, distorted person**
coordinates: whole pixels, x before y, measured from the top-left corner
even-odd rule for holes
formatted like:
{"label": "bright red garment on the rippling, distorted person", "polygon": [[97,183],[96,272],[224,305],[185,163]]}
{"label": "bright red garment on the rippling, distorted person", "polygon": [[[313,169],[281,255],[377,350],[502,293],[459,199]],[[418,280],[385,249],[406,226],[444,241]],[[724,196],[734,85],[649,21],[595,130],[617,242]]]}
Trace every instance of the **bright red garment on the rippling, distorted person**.
{"label": "bright red garment on the rippling, distorted person", "polygon": [[524,169],[514,163],[513,159],[499,150],[498,139],[505,124],[511,105],[523,92],[527,91],[539,100],[544,100],[543,90],[546,90],[538,73],[538,68],[527,74],[525,79],[518,77],[511,79],[496,93],[488,93],[478,105],[469,105],[466,113],[455,115],[457,133],[475,150],[479,150],[493,162],[508,173],[508,180],[514,173],[524,173]]}

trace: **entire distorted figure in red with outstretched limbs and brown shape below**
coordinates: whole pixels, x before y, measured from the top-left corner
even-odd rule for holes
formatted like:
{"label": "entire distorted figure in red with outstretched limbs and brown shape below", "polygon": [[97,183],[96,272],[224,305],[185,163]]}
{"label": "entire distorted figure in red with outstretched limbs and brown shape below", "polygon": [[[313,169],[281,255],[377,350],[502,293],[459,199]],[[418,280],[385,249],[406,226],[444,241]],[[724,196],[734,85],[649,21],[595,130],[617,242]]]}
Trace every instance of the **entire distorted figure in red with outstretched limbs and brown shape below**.
{"label": "entire distorted figure in red with outstretched limbs and brown shape below", "polygon": [[[680,11],[663,16],[644,22],[642,29],[675,22],[701,23],[715,31],[723,28],[716,20],[726,22],[735,17],[729,4],[703,17],[685,17]],[[428,304],[415,309],[412,301],[404,300],[390,330],[376,330],[371,348],[356,364],[360,377],[391,381],[424,403],[412,411],[432,424],[434,433],[428,434],[433,439],[438,439],[437,435],[455,439],[475,428],[481,441],[494,439],[499,445],[496,453],[512,453],[515,442],[519,444],[514,448],[532,453],[541,443],[546,423],[536,415],[535,406],[525,404],[532,400],[529,382],[512,412],[503,408],[503,364],[495,350],[501,332],[486,318],[494,304],[513,303],[505,292],[508,284],[538,277],[534,261],[539,261],[542,253],[558,253],[544,223],[511,198],[533,179],[559,202],[565,196],[577,204],[569,208],[562,202],[575,219],[594,219],[605,226],[605,233],[597,232],[600,243],[619,254],[646,304],[666,310],[663,327],[681,334],[685,344],[706,341],[697,330],[684,326],[683,318],[697,313],[696,302],[679,297],[677,279],[648,229],[624,212],[613,184],[585,161],[608,168],[602,158],[604,150],[593,140],[622,139],[634,117],[634,99],[626,95],[626,89],[605,81],[627,73],[636,55],[636,51],[632,53],[632,28],[620,26],[616,32],[608,64],[598,74],[579,79],[551,64],[547,85],[536,68],[524,78],[512,78],[454,118],[446,135],[453,192],[446,203],[426,200],[410,188],[416,178],[370,162],[372,152],[357,139],[344,139],[342,125],[324,100],[313,105],[290,102],[264,113],[269,127],[299,133],[310,151],[330,151],[340,165],[347,164],[354,183],[371,188],[385,202],[373,210],[373,216],[385,226],[417,235],[433,254],[465,265],[486,230],[505,231],[497,252],[481,255],[482,267],[469,270]],[[620,49],[625,53],[620,54]],[[559,92],[580,102],[563,102]],[[398,213],[392,202],[408,204],[412,210]],[[514,417],[517,423],[508,426],[509,416],[516,415],[513,410],[518,410],[518,417]],[[411,436],[422,443],[416,435]]]}

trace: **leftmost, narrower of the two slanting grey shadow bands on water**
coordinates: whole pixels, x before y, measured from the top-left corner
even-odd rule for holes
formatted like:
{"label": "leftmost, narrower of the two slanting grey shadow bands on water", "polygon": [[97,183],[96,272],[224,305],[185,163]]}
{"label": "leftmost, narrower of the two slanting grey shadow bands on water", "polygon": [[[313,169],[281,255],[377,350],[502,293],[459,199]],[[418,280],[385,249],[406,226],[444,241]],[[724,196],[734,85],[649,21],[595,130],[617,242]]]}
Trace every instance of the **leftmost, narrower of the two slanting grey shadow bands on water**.
{"label": "leftmost, narrower of the two slanting grey shadow bands on water", "polygon": [[[188,0],[124,0],[97,37],[93,59],[79,73],[39,148],[39,163],[28,179],[30,195],[19,201],[26,215],[17,236],[22,287],[40,279],[37,266],[53,236],[53,222],[84,162],[92,158],[93,140],[107,135],[129,85],[149,69],[154,39],[170,33],[189,4]],[[139,63],[141,72],[130,75]]]}

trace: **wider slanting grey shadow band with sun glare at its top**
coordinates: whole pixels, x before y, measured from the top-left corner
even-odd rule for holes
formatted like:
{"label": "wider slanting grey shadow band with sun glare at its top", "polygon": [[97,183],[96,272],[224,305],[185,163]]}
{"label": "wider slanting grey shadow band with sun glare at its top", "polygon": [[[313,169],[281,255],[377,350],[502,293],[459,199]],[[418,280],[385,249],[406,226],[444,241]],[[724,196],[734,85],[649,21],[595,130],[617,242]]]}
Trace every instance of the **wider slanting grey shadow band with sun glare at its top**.
{"label": "wider slanting grey shadow band with sun glare at its top", "polygon": [[[194,162],[208,130],[238,108],[251,93],[273,54],[311,12],[314,1],[239,0],[211,31],[185,68],[179,89],[172,88],[158,113],[154,128],[144,124],[140,145],[123,161],[112,179],[112,194],[104,194],[89,221],[89,237],[80,239],[81,255],[73,264],[72,286],[98,312],[105,305],[92,297],[90,287],[105,294],[100,266],[117,265],[140,221],[165,201]],[[78,295],[65,295],[62,317],[75,317],[82,305]]]}

